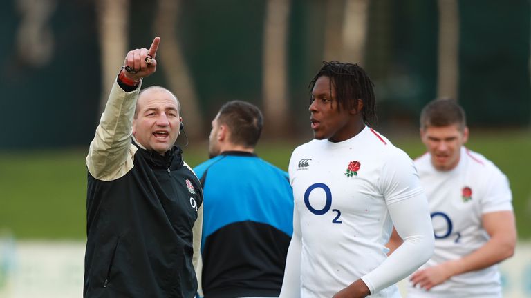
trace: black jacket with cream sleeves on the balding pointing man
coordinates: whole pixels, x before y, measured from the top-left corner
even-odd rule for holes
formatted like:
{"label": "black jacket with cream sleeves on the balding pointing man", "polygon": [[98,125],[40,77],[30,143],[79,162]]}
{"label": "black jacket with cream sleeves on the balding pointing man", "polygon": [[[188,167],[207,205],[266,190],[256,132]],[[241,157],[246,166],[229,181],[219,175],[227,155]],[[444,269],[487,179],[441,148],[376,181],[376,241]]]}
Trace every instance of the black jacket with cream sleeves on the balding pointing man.
{"label": "black jacket with cream sleeves on the balding pointing man", "polygon": [[[202,213],[198,211],[203,193],[199,181],[183,162],[180,148],[162,156],[140,148],[131,137],[126,146],[122,132],[109,132],[109,127],[120,130],[120,125],[109,121],[113,112],[109,105],[121,108],[131,97],[118,91],[124,95],[115,103],[113,92],[117,90],[111,92],[107,115],[102,117],[87,157],[83,295],[192,298],[197,290],[192,257],[201,239],[200,233],[199,239],[194,239],[192,232],[197,224],[201,232]],[[134,107],[135,102],[127,104]],[[128,113],[116,111],[117,115]],[[118,150],[122,153],[115,152]],[[121,159],[122,163],[117,162]],[[107,168],[112,170],[101,170]]]}

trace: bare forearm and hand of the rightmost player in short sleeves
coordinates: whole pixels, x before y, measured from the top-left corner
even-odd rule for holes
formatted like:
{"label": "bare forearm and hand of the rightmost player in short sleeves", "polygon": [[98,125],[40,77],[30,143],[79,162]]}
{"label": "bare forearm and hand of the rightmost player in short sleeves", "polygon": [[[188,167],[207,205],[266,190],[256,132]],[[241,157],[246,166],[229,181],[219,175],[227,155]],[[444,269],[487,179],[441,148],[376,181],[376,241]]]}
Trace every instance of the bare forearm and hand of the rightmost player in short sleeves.
{"label": "bare forearm and hand of the rightmost player in short sleeves", "polygon": [[484,246],[460,259],[418,270],[411,277],[413,286],[418,285],[429,290],[454,275],[481,270],[511,257],[516,246],[513,212],[490,212],[484,214],[481,219],[483,227],[490,236],[490,240]]}

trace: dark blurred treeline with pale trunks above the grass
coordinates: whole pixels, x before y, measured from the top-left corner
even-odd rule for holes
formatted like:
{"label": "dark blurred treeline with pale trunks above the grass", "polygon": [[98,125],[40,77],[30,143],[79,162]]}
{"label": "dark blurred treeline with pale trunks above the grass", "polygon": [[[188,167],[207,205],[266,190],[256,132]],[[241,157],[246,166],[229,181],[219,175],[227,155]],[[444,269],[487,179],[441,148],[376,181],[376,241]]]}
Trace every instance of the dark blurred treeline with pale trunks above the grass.
{"label": "dark blurred treeline with pale trunks above the grass", "polygon": [[[194,95],[186,99],[193,100],[196,112],[187,112],[183,105],[185,121],[194,115],[195,121],[187,121],[197,128],[187,126],[192,139],[206,139],[212,117],[232,99],[264,108],[268,98],[277,97],[279,101],[270,101],[270,106],[283,105],[277,114],[265,112],[266,134],[282,139],[309,133],[308,82],[323,60],[357,57],[351,62],[363,66],[375,82],[381,130],[416,128],[427,101],[452,94],[440,87],[447,66],[442,52],[447,43],[440,38],[447,20],[441,18],[444,0],[182,0],[170,1],[178,5],[171,11],[160,9],[171,4],[165,0],[117,2],[125,12],[111,21],[121,22],[125,34],[104,39],[102,32],[115,29],[102,23],[106,0],[4,1],[0,150],[88,146],[100,117],[100,101],[109,92],[102,79],[104,58],[109,56],[102,45],[121,41],[126,46],[118,51],[121,57],[113,59],[112,78],[128,49],[149,47],[156,35],[168,45],[175,41],[178,50],[175,55],[171,48],[160,54],[160,69],[145,79],[143,87],[162,85],[178,97]],[[355,6],[360,3],[365,10],[347,14],[349,7],[363,7]],[[455,59],[449,61],[456,73],[447,78],[454,80],[453,96],[467,110],[469,124],[528,128],[530,2],[453,3],[458,26],[450,36],[457,46]],[[275,6],[279,10],[271,10]],[[346,26],[357,17],[365,20],[364,27]],[[268,28],[284,30],[283,35],[267,39]],[[349,56],[349,48],[342,45],[360,32],[362,39],[354,40],[362,41],[355,43],[362,52]],[[276,41],[279,46],[270,48]],[[277,62],[277,68],[266,70]],[[176,74],[176,66],[186,72]],[[277,80],[281,92],[274,93],[275,85],[265,86],[271,73],[272,81],[282,75]],[[176,80],[181,85],[172,85]],[[172,88],[183,81],[191,93]]]}

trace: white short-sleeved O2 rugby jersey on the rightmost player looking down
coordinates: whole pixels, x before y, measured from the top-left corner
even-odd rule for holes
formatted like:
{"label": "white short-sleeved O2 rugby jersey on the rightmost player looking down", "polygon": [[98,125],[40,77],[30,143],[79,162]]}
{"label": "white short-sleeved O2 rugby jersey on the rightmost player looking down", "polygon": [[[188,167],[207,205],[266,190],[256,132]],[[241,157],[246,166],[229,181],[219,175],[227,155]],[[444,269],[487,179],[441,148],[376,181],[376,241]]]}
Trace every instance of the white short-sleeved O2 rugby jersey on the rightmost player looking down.
{"label": "white short-sleeved O2 rugby jersey on the rightmost player looking down", "polygon": [[[434,256],[422,268],[460,259],[481,248],[489,240],[482,215],[512,210],[507,177],[483,155],[463,147],[458,165],[447,172],[436,170],[430,159],[427,153],[415,161],[436,238]],[[429,292],[436,297],[501,297],[500,283],[494,265],[451,277]],[[411,286],[408,292],[412,297],[425,292]]]}

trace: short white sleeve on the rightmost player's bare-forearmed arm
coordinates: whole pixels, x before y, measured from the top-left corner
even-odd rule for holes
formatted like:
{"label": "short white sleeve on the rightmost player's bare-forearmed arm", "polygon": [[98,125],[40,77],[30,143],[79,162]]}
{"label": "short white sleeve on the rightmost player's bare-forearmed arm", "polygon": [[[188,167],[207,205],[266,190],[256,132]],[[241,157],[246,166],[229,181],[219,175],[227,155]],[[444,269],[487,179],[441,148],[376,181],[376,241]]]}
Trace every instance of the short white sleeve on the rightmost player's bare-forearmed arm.
{"label": "short white sleeve on the rightmost player's bare-forearmed arm", "polygon": [[487,179],[481,197],[481,212],[496,212],[512,210],[512,192],[507,176],[492,166],[492,175]]}

